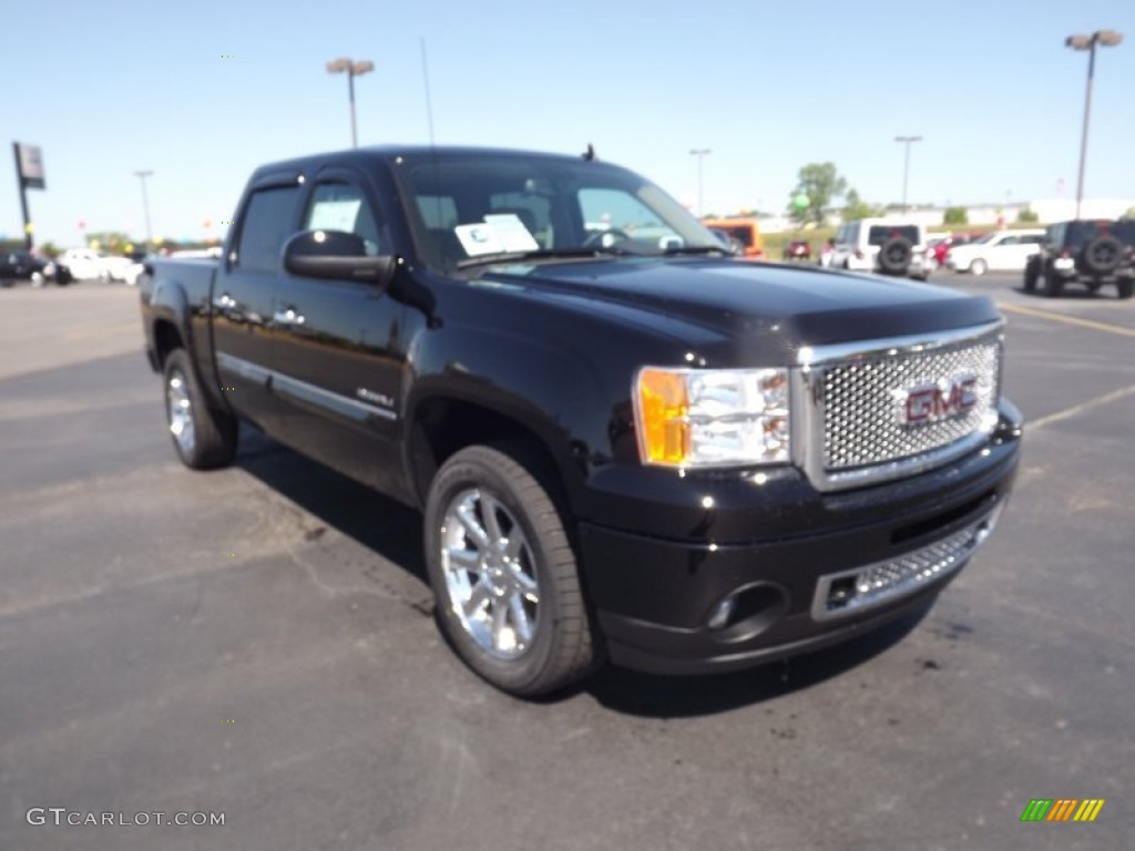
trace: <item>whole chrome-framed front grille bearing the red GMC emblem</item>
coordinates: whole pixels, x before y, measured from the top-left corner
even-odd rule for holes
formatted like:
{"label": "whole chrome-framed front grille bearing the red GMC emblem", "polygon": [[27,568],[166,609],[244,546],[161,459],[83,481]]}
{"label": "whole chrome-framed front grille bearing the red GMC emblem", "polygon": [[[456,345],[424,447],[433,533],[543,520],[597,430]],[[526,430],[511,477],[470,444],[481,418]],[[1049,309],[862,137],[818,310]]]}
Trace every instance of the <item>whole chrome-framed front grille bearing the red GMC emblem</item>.
{"label": "whole chrome-framed front grille bearing the red GMC emblem", "polygon": [[976,448],[997,424],[1002,327],[802,351],[796,462],[816,487],[834,490]]}

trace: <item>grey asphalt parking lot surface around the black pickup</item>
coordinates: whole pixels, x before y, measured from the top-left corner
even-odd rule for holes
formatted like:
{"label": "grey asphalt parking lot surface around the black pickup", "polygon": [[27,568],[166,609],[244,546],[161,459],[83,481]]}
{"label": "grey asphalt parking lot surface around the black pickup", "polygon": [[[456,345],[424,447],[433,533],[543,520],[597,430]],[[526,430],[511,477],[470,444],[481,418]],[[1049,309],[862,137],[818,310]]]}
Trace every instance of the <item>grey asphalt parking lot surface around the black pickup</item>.
{"label": "grey asphalt parking lot surface around the black pickup", "polygon": [[[0,848],[1129,848],[1135,300],[932,283],[1001,305],[1028,421],[936,606],[543,703],[444,646],[412,512],[251,432],[180,466],[135,292],[0,290]],[[1107,803],[1023,824],[1036,798]],[[28,824],[52,807],[225,824]]]}

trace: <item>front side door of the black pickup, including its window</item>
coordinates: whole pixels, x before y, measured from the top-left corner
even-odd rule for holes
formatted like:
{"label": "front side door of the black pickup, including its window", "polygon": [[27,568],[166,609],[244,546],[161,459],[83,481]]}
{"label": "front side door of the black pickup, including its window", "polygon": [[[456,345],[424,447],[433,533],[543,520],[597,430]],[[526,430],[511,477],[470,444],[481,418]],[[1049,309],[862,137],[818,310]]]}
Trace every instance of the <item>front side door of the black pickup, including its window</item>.
{"label": "front side door of the black pickup, including its window", "polygon": [[[299,229],[353,233],[379,255],[393,251],[384,221],[363,176],[334,168],[311,182]],[[397,492],[402,482],[396,438],[404,311],[367,281],[288,273],[276,294],[280,439],[386,492]]]}

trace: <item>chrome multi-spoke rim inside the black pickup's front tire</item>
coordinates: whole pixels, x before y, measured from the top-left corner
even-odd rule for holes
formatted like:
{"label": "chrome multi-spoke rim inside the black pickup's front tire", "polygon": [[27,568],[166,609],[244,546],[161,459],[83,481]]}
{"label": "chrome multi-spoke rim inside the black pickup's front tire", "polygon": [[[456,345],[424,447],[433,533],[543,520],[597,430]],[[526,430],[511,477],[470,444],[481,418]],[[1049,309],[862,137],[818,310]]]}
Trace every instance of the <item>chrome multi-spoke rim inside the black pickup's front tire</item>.
{"label": "chrome multi-spoke rim inside the black pickup's front tire", "polygon": [[456,494],[443,517],[442,570],[457,621],[490,656],[522,656],[536,634],[540,591],[520,523],[484,488]]}

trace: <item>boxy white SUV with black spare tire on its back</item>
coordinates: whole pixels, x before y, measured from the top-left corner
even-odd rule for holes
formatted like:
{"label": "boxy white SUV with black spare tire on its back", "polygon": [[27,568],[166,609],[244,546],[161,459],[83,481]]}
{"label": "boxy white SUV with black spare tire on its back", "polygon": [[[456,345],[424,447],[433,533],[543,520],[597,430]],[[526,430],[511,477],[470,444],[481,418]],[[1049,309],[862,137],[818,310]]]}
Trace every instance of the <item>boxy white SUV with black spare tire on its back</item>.
{"label": "boxy white SUV with black spare tire on its back", "polygon": [[922,225],[860,219],[840,225],[832,267],[926,280],[934,262],[927,256],[926,228]]}

